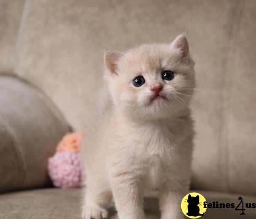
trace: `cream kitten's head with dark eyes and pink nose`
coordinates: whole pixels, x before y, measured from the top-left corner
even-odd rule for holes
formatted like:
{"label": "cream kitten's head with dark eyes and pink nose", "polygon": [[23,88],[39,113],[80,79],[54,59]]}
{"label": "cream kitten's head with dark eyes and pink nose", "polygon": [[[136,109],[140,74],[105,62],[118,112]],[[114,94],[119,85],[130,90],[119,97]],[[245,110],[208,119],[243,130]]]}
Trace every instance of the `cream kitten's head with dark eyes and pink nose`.
{"label": "cream kitten's head with dark eyes and pink nose", "polygon": [[185,35],[171,44],[145,44],[125,53],[106,51],[105,78],[114,106],[142,119],[163,119],[188,107],[194,62]]}

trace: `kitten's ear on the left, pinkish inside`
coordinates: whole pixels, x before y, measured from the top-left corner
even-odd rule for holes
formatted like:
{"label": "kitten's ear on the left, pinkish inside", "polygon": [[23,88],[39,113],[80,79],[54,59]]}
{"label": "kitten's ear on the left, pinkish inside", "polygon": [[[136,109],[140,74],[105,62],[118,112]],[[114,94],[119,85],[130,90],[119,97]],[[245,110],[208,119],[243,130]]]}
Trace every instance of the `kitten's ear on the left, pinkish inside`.
{"label": "kitten's ear on the left, pinkish inside", "polygon": [[106,68],[110,73],[117,75],[117,62],[123,56],[123,53],[113,50],[105,50],[104,52],[104,62]]}

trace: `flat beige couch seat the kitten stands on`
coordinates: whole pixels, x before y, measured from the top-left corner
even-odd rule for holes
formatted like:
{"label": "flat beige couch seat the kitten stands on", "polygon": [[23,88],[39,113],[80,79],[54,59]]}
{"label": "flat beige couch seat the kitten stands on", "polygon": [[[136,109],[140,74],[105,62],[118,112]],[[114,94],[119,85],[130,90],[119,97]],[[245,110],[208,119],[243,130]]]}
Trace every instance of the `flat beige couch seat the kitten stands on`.
{"label": "flat beige couch seat the kitten stands on", "polygon": [[[239,203],[237,195],[218,192],[198,191],[207,202]],[[80,219],[80,189],[37,189],[0,195],[0,218],[3,219]],[[246,203],[255,203],[255,197],[242,196]],[[158,201],[155,198],[145,200],[147,219],[160,219]],[[207,208],[203,219],[253,219],[256,209],[241,211],[223,208]],[[110,219],[117,219],[112,212]]]}

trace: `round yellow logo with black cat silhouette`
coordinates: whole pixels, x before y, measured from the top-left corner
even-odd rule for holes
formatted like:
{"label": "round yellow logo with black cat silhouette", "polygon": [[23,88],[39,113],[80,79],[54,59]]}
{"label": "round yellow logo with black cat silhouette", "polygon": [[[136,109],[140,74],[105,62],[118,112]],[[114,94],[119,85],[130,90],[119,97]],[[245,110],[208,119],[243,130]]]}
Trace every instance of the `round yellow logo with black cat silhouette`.
{"label": "round yellow logo with black cat silhouette", "polygon": [[207,209],[204,208],[204,202],[206,202],[204,196],[197,192],[191,192],[183,197],[180,207],[188,218],[199,218],[205,214]]}

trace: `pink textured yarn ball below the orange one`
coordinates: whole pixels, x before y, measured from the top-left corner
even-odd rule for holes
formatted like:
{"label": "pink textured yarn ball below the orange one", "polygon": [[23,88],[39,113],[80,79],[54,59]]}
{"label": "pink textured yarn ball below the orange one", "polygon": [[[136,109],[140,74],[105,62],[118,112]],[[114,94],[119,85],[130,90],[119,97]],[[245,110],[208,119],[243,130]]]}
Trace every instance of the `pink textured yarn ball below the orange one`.
{"label": "pink textured yarn ball below the orange one", "polygon": [[58,151],[48,159],[48,172],[55,187],[81,186],[82,162],[74,151]]}

